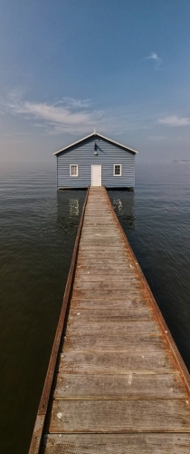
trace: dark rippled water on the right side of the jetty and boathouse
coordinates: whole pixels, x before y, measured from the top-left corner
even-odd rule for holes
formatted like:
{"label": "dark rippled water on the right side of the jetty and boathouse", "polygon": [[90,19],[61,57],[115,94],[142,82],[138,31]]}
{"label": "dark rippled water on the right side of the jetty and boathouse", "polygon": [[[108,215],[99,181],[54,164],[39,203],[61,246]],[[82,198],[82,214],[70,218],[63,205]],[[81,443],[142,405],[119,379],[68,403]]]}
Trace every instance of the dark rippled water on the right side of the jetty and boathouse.
{"label": "dark rippled water on the right side of the jetty and boathouse", "polygon": [[138,164],[135,192],[109,192],[190,370],[190,163]]}

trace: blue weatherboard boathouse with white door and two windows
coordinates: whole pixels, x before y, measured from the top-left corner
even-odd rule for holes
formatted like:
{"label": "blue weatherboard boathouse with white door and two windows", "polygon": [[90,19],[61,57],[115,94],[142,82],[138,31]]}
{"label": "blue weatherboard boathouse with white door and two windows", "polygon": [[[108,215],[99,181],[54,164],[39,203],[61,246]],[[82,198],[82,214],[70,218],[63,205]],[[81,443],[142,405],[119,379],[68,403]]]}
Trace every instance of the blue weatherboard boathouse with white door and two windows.
{"label": "blue weatherboard boathouse with white door and two windows", "polygon": [[58,189],[134,188],[135,155],[127,145],[100,133],[87,135],[53,153],[57,157]]}

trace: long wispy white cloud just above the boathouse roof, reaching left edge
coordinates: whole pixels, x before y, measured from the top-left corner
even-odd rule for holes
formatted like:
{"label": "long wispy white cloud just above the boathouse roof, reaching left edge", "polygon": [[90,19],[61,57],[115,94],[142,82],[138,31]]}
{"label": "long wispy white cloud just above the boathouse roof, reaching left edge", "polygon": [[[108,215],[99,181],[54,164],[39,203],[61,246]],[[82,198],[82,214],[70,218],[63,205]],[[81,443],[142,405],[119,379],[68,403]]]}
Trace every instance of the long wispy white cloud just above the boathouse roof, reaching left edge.
{"label": "long wispy white cloud just above the boathouse roof, reaching left edge", "polygon": [[81,134],[99,131],[124,133],[146,127],[138,115],[103,111],[94,108],[91,100],[62,98],[53,104],[27,101],[23,94],[14,91],[6,102],[1,103],[4,111],[23,117],[33,126],[45,128],[46,133]]}

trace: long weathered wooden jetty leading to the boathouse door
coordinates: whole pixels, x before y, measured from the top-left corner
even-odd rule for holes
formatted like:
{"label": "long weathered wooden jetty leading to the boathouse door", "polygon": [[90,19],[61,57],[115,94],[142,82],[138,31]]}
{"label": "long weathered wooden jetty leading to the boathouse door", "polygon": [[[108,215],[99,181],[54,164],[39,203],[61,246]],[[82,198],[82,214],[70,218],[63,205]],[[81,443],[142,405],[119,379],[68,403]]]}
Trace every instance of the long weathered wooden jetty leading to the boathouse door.
{"label": "long weathered wooden jetty leading to the boathouse door", "polygon": [[87,193],[29,452],[190,452],[189,374],[104,187]]}

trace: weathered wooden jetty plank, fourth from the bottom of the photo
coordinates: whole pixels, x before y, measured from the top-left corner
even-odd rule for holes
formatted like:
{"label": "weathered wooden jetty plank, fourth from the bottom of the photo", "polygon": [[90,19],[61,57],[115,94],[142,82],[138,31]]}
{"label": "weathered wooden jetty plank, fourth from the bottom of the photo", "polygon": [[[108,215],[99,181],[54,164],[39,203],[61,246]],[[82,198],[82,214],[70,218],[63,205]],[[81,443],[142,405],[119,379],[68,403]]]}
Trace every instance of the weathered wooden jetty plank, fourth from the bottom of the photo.
{"label": "weathered wooden jetty plank, fourth from the bottom of the photo", "polygon": [[176,362],[168,352],[166,345],[160,349],[159,344],[152,348],[136,346],[136,349],[125,350],[100,350],[94,351],[71,351],[63,350],[60,355],[60,371],[66,373],[90,373],[90,374],[123,374],[133,371],[150,371],[170,373],[176,371]]}

